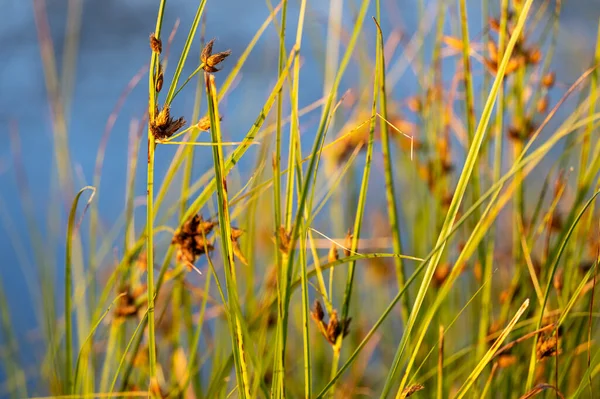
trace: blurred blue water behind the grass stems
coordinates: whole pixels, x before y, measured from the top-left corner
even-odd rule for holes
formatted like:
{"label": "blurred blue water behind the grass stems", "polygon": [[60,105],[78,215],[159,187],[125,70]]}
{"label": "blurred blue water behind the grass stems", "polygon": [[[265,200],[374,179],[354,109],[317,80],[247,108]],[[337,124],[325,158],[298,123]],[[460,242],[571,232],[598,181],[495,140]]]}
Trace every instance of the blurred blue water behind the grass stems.
{"label": "blurred blue water behind the grass stems", "polygon": [[[122,218],[126,196],[126,170],[130,131],[132,126],[144,118],[147,105],[147,64],[150,58],[148,37],[154,30],[158,1],[148,0],[4,0],[2,2],[0,24],[0,277],[4,297],[11,310],[12,323],[18,331],[22,357],[25,364],[35,368],[36,343],[39,342],[39,326],[36,319],[36,300],[39,292],[35,288],[40,276],[36,274],[32,254],[32,234],[44,242],[44,258],[54,265],[53,275],[57,287],[62,285],[64,261],[64,236],[66,233],[66,212],[74,194],[83,186],[92,184],[99,149],[105,147],[101,164],[101,186],[95,201],[99,207],[101,224],[108,231],[116,220]],[[445,33],[458,35],[456,2],[448,2]],[[480,2],[469,1],[469,27],[473,41],[481,41],[487,18],[482,17]],[[498,14],[499,2],[489,2],[490,15]],[[343,1],[340,29],[342,46],[347,41],[349,27],[352,26],[358,4],[356,1]],[[385,40],[396,42],[395,50],[389,58],[389,76],[394,81],[390,88],[391,96],[403,104],[402,100],[419,93],[421,82],[415,72],[414,63],[429,62],[431,43],[436,23],[438,1],[405,0],[382,1],[385,12],[381,21]],[[534,10],[552,13],[554,1],[536,1]],[[275,7],[272,4],[271,7]],[[163,48],[171,54],[179,54],[186,39],[197,7],[196,1],[170,0],[163,24]],[[295,36],[295,16],[298,2],[290,3],[288,13],[292,15],[288,25],[289,48]],[[215,50],[232,50],[232,56],[225,61],[224,68],[230,68],[239,54],[246,48],[251,38],[268,18],[270,6],[262,0],[219,0],[208,1],[205,18],[202,21],[202,37],[196,37],[182,76],[191,73],[199,59],[202,43],[215,38]],[[329,2],[309,1],[301,69],[302,86],[300,108],[319,100],[326,88],[323,81],[326,74],[325,59],[328,30]],[[375,15],[374,6],[365,21],[362,43],[359,51],[367,51],[375,43],[375,29],[370,19]],[[555,90],[550,93],[550,102],[555,104],[564,91],[592,63],[595,40],[600,18],[600,3],[597,0],[569,1],[562,7],[560,27],[551,70],[558,77]],[[331,28],[329,28],[331,29]],[[415,42],[418,32],[425,39]],[[539,32],[538,32],[539,34]],[[172,41],[167,44],[167,37]],[[393,44],[390,44],[393,46]],[[367,50],[366,50],[367,49]],[[423,59],[412,57],[414,51],[422,51]],[[255,50],[242,68],[240,78],[230,90],[221,106],[223,132],[226,140],[243,137],[248,127],[271,90],[277,77],[278,33],[273,24],[269,25]],[[343,51],[343,49],[341,50]],[[374,52],[370,51],[372,58]],[[412,57],[412,58],[411,58]],[[454,57],[454,58],[453,58]],[[459,54],[448,55],[444,62],[446,83],[451,82]],[[49,63],[50,62],[50,63]],[[49,65],[55,63],[56,69]],[[176,60],[169,60],[166,81],[173,73]],[[339,95],[350,89],[349,98],[358,98],[362,91],[370,93],[370,78],[356,62],[351,62]],[[484,84],[484,67],[473,63],[475,90],[479,92]],[[59,81],[54,81],[58,76]],[[225,73],[216,74],[217,85]],[[57,176],[55,156],[56,141],[60,131],[56,131],[57,121],[53,120],[51,104],[53,93],[60,93],[60,103],[64,106],[64,136],[70,152],[72,187],[65,192],[61,189]],[[354,97],[353,97],[354,96]],[[476,101],[477,115],[481,111],[481,101]],[[176,116],[191,118],[194,112],[194,90],[184,90],[173,102]],[[405,107],[401,105],[400,107]],[[330,130],[330,137],[337,135],[346,122],[348,109],[342,109],[336,124]],[[401,111],[402,112],[402,111]],[[565,108],[565,114],[568,108]],[[204,110],[201,111],[201,114]],[[111,117],[112,115],[112,117]],[[302,134],[304,143],[312,143],[312,135],[318,124],[319,112],[303,117]],[[406,117],[410,121],[410,116]],[[113,124],[114,123],[114,124]],[[133,125],[132,125],[133,123]],[[60,123],[58,123],[60,125]],[[144,129],[139,130],[145,134]],[[418,136],[418,132],[415,132]],[[206,137],[204,137],[206,138]],[[145,143],[140,146],[140,159],[144,160]],[[176,148],[162,146],[157,154],[157,180],[164,175]],[[252,165],[256,150],[251,150],[244,158],[240,179],[244,180],[244,165]],[[464,152],[460,146],[454,150],[461,159]],[[194,170],[199,176],[212,164],[209,149],[196,150]],[[549,160],[551,162],[552,160]],[[376,170],[374,179],[381,178]],[[138,179],[136,195],[145,195],[145,162],[137,167]],[[196,172],[195,172],[196,173]],[[534,183],[535,184],[535,183]],[[23,193],[29,191],[33,200],[26,204]],[[177,193],[169,194],[171,201],[177,200]],[[29,212],[29,213],[28,213]],[[142,222],[145,210],[138,207],[137,221]],[[137,214],[137,213],[136,213]],[[29,219],[29,222],[27,221]],[[32,229],[37,231],[33,232]],[[116,236],[114,257],[122,251],[122,233]],[[84,239],[83,246],[86,248]],[[99,265],[102,268],[110,264]],[[100,282],[101,284],[101,282]],[[60,295],[62,297],[62,295]],[[62,299],[57,298],[57,306]],[[3,346],[0,336],[0,346]],[[1,368],[0,368],[1,370]],[[0,397],[6,394],[3,387],[3,374],[0,372]]]}

